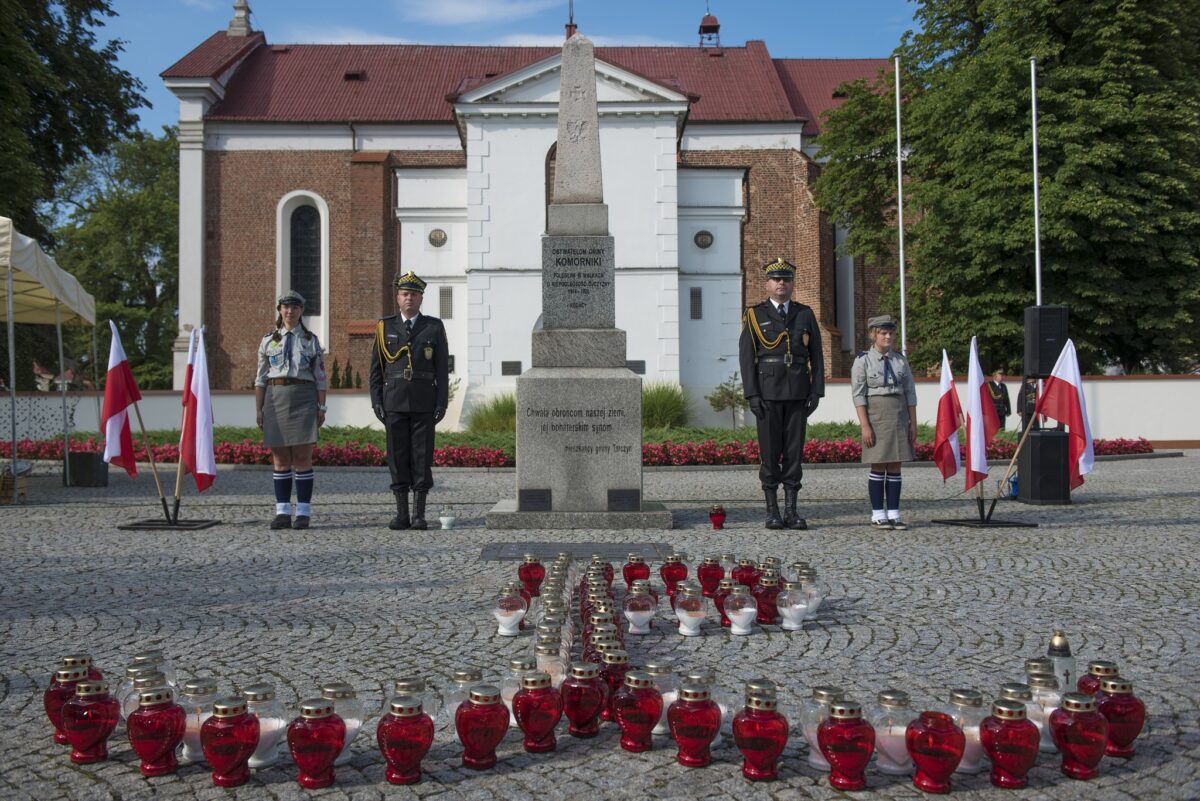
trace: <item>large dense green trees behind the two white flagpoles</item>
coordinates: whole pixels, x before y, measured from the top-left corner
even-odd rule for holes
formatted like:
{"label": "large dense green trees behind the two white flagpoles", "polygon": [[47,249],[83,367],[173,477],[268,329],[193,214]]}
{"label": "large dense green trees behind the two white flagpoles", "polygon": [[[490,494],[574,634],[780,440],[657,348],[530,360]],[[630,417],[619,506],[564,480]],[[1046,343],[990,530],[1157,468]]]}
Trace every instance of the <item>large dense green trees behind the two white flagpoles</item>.
{"label": "large dense green trees behind the two white flagpoles", "polygon": [[[1043,302],[1084,369],[1177,369],[1200,337],[1200,24],[1187,0],[923,0],[905,89],[908,344],[1019,365],[1033,293],[1030,56],[1038,59]],[[818,203],[889,257],[890,76],[827,118]],[[889,120],[890,122],[890,120]],[[894,124],[892,124],[894,125]],[[908,205],[911,204],[911,205]],[[854,229],[860,229],[857,233]]]}

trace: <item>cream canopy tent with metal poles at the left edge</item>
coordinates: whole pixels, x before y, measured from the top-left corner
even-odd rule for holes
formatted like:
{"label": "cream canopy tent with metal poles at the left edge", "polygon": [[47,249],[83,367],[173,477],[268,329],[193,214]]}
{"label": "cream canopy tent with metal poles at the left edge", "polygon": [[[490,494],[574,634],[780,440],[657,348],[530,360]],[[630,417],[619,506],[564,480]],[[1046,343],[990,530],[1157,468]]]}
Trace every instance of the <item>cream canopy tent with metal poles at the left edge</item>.
{"label": "cream canopy tent with metal poles at the left edge", "polygon": [[[0,319],[8,329],[10,433],[12,438],[13,502],[17,502],[17,354],[13,325],[31,323],[54,325],[59,336],[59,374],[62,366],[62,324],[86,323],[92,326],[92,363],[95,363],[96,301],[79,282],[48,257],[31,237],[20,234],[7,217],[0,217],[0,269],[5,271],[4,303]],[[67,424],[67,387],[62,387],[62,463],[70,470],[66,453],[71,450]],[[67,483],[71,475],[67,474]]]}

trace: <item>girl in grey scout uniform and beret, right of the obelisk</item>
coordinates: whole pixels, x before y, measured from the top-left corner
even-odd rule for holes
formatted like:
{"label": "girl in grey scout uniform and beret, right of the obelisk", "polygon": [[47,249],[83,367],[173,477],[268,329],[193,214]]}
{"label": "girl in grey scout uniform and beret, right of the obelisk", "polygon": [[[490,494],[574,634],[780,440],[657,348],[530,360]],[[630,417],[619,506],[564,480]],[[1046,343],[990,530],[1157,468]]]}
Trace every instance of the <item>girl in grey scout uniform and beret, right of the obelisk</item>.
{"label": "girl in grey scout uniform and beret, right of the obelisk", "polygon": [[863,433],[863,464],[871,465],[866,489],[871,528],[904,530],[900,520],[900,464],[917,446],[917,386],[904,354],[892,349],[896,321],[890,314],[866,323],[871,347],[850,368],[850,395]]}

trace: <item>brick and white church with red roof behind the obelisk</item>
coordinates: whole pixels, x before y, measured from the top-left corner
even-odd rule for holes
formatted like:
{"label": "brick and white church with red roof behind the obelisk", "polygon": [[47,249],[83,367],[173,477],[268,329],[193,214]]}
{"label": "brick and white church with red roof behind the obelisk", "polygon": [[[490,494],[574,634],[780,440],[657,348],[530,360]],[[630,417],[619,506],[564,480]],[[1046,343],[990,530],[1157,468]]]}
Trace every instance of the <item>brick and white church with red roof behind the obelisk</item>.
{"label": "brick and white church with red roof behind the obelisk", "polygon": [[[228,30],[162,73],[180,101],[176,387],[200,325],[214,389],[250,387],[290,289],[326,366],[365,384],[391,281],[413,271],[467,408],[512,392],[541,313],[560,49],[275,44],[248,13],[238,0]],[[838,253],[810,192],[814,138],[835,89],[888,61],[773,59],[761,41],[722,46],[710,16],[696,47],[595,53],[630,369],[680,384],[695,422],[727,420],[703,396],[738,369],[742,309],[782,257],[827,369],[848,374],[887,270]]]}

